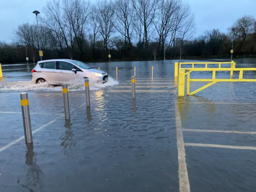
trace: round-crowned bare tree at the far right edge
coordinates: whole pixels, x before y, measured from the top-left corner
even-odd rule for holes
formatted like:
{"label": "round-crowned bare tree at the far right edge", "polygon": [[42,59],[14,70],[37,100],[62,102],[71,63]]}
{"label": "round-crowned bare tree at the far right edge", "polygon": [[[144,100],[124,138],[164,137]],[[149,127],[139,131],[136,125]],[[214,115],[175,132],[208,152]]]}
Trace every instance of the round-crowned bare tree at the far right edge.
{"label": "round-crowned bare tree at the far right edge", "polygon": [[254,34],[256,20],[253,16],[244,16],[238,19],[231,28],[229,28],[230,36],[236,38],[240,42],[239,52],[248,37]]}

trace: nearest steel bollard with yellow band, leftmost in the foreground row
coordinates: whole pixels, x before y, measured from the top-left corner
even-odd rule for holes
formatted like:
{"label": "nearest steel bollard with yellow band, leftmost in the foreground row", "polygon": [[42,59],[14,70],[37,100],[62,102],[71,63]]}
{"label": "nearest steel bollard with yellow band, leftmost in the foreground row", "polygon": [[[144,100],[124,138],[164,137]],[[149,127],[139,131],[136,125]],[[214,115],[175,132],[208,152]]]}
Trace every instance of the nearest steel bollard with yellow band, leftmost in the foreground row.
{"label": "nearest steel bollard with yellow band, leftmost in the foreground row", "polygon": [[27,93],[20,94],[20,104],[21,104],[21,111],[22,111],[25,142],[26,142],[26,144],[32,144],[33,140],[32,140],[32,131],[31,131],[30,114],[29,114],[29,106],[28,106],[28,94]]}

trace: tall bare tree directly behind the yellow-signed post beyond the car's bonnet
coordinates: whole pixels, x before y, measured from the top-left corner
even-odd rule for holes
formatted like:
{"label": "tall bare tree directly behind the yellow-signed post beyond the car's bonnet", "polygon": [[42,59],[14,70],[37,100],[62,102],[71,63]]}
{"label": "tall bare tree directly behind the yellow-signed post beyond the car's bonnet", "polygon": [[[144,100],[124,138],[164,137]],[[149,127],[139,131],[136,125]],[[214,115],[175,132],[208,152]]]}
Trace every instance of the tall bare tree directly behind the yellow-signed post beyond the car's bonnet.
{"label": "tall bare tree directly behind the yellow-signed post beyond the car's bonnet", "polygon": [[104,50],[108,50],[108,39],[114,32],[114,8],[112,0],[98,0],[96,2],[96,14],[99,20],[99,32],[104,41]]}

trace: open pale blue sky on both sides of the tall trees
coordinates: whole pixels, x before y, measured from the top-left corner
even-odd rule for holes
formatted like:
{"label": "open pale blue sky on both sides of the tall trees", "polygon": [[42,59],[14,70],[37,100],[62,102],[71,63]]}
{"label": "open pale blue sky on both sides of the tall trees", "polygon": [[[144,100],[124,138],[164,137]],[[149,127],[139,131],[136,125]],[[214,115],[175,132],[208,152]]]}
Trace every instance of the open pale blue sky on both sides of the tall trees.
{"label": "open pale blue sky on both sides of the tall trees", "polygon": [[[47,0],[0,0],[0,41],[11,42],[19,24],[35,23]],[[94,0],[91,0],[93,2]],[[196,20],[196,35],[214,28],[226,32],[245,14],[256,17],[256,0],[187,0]]]}

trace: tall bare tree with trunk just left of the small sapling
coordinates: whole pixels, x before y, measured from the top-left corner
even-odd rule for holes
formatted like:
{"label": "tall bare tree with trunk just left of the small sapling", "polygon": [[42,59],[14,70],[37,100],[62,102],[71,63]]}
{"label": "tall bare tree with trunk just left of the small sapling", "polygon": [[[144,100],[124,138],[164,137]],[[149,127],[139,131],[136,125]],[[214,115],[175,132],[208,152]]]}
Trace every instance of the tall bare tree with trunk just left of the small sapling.
{"label": "tall bare tree with trunk just left of the small sapling", "polygon": [[132,0],[134,10],[136,12],[136,20],[141,24],[137,25],[137,32],[142,35],[141,26],[143,26],[143,42],[145,41],[145,50],[148,52],[149,30],[156,15],[159,0]]}

